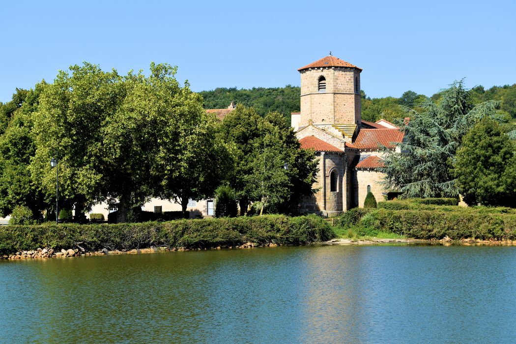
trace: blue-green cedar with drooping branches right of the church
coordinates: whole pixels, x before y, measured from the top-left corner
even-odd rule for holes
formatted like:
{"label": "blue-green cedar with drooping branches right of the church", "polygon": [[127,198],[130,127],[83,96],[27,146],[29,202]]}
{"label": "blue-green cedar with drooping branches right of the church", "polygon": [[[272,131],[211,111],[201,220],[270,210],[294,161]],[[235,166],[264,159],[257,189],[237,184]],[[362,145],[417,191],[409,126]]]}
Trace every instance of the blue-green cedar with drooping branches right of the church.
{"label": "blue-green cedar with drooping branches right of the church", "polygon": [[408,197],[457,196],[452,165],[459,143],[481,118],[496,117],[496,103],[473,106],[462,81],[440,94],[438,104],[428,100],[422,111],[409,112],[410,122],[398,121],[405,132],[401,154],[384,150],[385,186]]}

